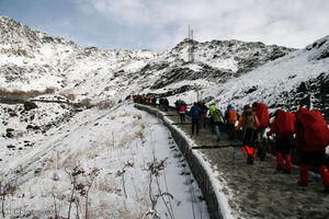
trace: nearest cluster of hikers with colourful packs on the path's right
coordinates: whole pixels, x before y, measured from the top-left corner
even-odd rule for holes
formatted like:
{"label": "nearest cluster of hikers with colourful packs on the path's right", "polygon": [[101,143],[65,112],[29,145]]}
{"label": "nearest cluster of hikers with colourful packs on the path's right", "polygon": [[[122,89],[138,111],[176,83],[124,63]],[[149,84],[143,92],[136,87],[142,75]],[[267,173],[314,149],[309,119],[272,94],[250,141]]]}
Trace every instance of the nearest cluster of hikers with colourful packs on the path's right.
{"label": "nearest cluster of hikers with colourful packs on the path's right", "polygon": [[[180,108],[182,101],[177,101],[177,108]],[[184,111],[186,106],[184,104]],[[179,111],[181,113],[181,111]],[[192,118],[192,135],[198,135],[198,125],[209,125],[211,130],[216,134],[217,141],[220,140],[220,127],[226,126],[229,140],[236,138],[239,132],[242,141],[242,149],[247,155],[247,164],[252,165],[258,157],[263,160],[265,157],[264,141],[271,142],[270,136],[274,136],[275,150],[271,147],[276,157],[275,172],[285,174],[291,173],[292,155],[294,147],[299,149],[299,186],[308,184],[308,166],[314,161],[325,185],[325,192],[329,193],[329,172],[326,166],[326,147],[329,146],[328,125],[317,110],[308,111],[299,108],[296,113],[277,110],[274,114],[272,124],[268,107],[263,103],[253,103],[252,106],[245,105],[241,115],[231,105],[227,106],[226,112],[222,113],[216,104],[213,103],[207,108],[204,104],[194,103],[188,112]],[[206,116],[208,115],[208,117]],[[208,118],[208,119],[207,119]],[[208,122],[207,122],[208,120]],[[182,120],[181,120],[182,122]],[[236,126],[237,124],[237,126]],[[270,129],[266,134],[265,130]],[[264,139],[264,136],[268,136]]]}

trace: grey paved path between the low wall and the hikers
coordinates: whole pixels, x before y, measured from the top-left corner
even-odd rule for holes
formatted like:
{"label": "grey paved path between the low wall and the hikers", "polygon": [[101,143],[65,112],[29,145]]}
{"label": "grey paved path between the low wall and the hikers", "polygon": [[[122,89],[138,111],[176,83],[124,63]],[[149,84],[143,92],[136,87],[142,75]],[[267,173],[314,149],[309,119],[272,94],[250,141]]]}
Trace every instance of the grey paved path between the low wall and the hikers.
{"label": "grey paved path between the low wall and the hikers", "polygon": [[[291,174],[276,173],[270,154],[264,161],[256,160],[253,165],[246,164],[246,155],[238,142],[227,140],[222,135],[220,143],[209,129],[201,129],[198,136],[191,135],[191,122],[180,124],[173,110],[166,117],[194,139],[204,160],[213,172],[218,172],[218,181],[225,181],[227,194],[235,218],[329,218],[329,194],[324,194],[320,178],[311,177],[308,187],[297,186],[299,173],[293,168]],[[224,147],[223,147],[224,146]]]}

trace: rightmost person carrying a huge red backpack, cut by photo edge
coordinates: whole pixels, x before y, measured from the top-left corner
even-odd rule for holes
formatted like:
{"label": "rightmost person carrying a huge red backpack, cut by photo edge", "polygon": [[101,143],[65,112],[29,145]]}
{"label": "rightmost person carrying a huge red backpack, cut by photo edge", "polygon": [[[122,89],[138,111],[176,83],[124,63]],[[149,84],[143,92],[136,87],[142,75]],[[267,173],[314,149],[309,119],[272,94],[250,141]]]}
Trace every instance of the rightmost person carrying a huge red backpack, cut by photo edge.
{"label": "rightmost person carrying a huge red backpack, cut by photo edge", "polygon": [[319,111],[299,108],[296,112],[295,143],[298,145],[300,152],[298,185],[307,186],[308,165],[314,160],[325,185],[324,192],[329,193],[329,172],[325,165],[326,147],[329,146],[329,128]]}

